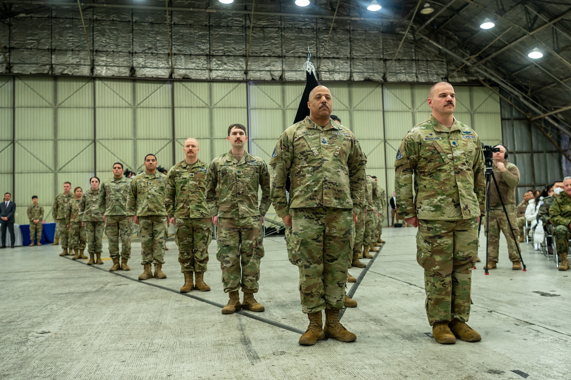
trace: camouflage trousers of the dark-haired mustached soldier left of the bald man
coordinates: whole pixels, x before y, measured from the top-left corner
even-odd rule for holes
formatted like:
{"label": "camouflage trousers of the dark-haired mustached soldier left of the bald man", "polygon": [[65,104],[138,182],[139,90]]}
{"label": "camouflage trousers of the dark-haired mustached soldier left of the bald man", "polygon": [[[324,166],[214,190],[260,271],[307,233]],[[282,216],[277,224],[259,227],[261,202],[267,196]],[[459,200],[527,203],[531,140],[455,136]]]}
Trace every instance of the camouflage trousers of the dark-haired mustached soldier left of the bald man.
{"label": "camouflage trousers of the dark-haired mustached soldier left of the bald man", "polygon": [[219,217],[216,242],[224,292],[241,287],[244,293],[257,293],[260,259],[264,257],[262,216]]}

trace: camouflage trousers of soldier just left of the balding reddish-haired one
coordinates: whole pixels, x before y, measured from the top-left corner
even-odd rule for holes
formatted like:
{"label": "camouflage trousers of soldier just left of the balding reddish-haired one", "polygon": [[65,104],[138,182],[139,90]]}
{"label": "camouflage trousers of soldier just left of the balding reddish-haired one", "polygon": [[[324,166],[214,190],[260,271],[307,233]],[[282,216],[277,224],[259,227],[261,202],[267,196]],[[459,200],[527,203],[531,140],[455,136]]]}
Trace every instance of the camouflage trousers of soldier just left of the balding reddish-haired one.
{"label": "camouflage trousers of soldier just left of the balding reddish-haired one", "polygon": [[141,241],[141,265],[164,264],[164,229],[167,217],[160,215],[139,216],[139,238]]}

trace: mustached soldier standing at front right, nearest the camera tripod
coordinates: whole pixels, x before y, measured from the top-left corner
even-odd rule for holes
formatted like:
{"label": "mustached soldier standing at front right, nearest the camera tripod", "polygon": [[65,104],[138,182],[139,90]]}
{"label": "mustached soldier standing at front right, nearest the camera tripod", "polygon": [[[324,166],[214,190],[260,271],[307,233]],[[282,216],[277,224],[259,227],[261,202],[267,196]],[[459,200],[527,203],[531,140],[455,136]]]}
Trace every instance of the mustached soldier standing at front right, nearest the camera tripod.
{"label": "mustached soldier standing at front right, nearest the camera tripod", "polygon": [[452,85],[436,83],[428,96],[432,116],[408,132],[396,153],[396,207],[419,227],[416,260],[424,268],[432,335],[439,343],[475,342],[481,336],[466,322],[486,207],[484,155],[476,132],[453,116]]}

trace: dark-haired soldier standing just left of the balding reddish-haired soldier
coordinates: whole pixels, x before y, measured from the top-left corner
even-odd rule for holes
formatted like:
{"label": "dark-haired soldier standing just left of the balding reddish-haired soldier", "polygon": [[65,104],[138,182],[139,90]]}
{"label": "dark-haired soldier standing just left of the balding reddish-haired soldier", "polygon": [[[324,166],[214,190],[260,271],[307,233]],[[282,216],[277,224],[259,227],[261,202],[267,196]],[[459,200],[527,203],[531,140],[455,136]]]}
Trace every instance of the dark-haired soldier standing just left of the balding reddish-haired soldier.
{"label": "dark-haired soldier standing just left of the balding reddish-haired soldier", "polygon": [[[164,207],[167,176],[156,170],[156,156],[144,157],[144,172],[131,179],[127,196],[127,214],[139,225],[143,273],[139,280],[151,277],[167,278],[163,273],[164,230],[167,228],[167,209]],[[155,273],[151,264],[155,262]]]}

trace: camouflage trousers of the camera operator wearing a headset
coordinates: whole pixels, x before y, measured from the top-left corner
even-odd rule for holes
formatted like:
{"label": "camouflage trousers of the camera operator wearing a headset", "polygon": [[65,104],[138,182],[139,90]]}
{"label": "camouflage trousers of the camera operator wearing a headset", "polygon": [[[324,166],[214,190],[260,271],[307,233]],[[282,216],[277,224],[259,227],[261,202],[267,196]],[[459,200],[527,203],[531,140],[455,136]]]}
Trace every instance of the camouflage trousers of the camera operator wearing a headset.
{"label": "camouflage trousers of the camera operator wearing a headset", "polygon": [[[506,211],[508,211],[509,221],[514,228],[514,235],[516,238],[519,236],[516,224],[516,205],[506,204]],[[488,237],[488,261],[498,262],[499,248],[500,248],[500,230],[504,233],[505,240],[508,241],[509,260],[520,261],[520,255],[517,254],[517,246],[520,243],[513,240],[512,232],[509,229],[508,219],[505,217],[504,209],[501,205],[490,208],[489,213],[489,237]]]}

